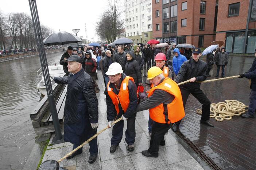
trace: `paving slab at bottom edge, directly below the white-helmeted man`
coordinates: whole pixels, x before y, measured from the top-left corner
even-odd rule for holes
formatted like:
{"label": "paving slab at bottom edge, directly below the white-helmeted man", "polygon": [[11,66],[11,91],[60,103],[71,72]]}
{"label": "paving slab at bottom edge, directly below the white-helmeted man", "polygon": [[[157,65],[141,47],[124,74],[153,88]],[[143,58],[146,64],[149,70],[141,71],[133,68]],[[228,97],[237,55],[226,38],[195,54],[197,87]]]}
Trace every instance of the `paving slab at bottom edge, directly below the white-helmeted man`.
{"label": "paving slab at bottom edge, directly below the white-helmeted man", "polygon": [[110,159],[108,161],[101,162],[102,170],[112,170],[112,169],[121,169],[121,170],[132,170],[135,169],[133,166],[131,157],[125,156],[116,159]]}

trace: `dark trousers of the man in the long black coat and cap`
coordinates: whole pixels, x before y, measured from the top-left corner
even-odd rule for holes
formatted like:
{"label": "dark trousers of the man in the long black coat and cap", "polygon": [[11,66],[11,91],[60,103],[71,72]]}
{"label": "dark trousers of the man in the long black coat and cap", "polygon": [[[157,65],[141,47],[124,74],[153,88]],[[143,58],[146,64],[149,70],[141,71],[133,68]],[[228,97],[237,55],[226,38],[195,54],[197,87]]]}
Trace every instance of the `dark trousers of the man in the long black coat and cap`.
{"label": "dark trousers of the man in the long black coat and cap", "polygon": [[[96,133],[97,133],[97,129],[92,129],[92,130],[88,131],[88,136],[87,136],[86,140],[88,140],[90,137],[92,137]],[[74,144],[73,150],[75,148],[77,148],[78,146],[80,146],[81,144],[82,143],[80,143],[79,145]],[[90,155],[97,155],[98,154],[97,138],[94,138],[92,141],[90,141],[89,146],[90,146],[90,149],[89,149]],[[77,151],[79,152],[79,151],[82,151],[82,150],[83,150],[83,147],[81,147]]]}

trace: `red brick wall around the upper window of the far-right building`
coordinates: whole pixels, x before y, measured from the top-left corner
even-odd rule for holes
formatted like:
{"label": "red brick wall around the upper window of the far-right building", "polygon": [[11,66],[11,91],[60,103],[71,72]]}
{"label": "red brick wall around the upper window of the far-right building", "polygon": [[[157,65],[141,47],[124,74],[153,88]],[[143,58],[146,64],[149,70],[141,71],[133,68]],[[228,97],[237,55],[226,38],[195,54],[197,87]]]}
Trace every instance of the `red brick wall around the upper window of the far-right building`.
{"label": "red brick wall around the upper window of the far-right building", "polygon": [[[229,4],[240,2],[239,16],[228,17]],[[219,0],[217,32],[246,28],[249,0]],[[217,35],[216,35],[217,40]]]}

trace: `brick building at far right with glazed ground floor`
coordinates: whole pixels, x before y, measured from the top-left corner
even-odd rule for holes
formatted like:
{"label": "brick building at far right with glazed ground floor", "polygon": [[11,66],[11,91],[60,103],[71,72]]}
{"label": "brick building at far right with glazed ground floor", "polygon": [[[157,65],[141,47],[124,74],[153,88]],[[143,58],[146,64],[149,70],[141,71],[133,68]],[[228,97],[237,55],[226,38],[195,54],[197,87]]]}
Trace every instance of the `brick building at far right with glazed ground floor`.
{"label": "brick building at far right with glazed ground floor", "polygon": [[256,48],[256,0],[219,1],[216,40],[227,52],[254,53]]}

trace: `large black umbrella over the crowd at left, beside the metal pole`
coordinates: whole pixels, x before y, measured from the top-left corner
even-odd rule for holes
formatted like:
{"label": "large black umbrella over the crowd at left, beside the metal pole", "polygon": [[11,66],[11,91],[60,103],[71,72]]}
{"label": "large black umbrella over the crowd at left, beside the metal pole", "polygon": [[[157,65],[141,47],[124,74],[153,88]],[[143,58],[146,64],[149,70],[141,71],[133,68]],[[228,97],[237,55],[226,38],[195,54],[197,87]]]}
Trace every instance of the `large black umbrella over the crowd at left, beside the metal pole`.
{"label": "large black umbrella over the crowd at left, beside the metal pole", "polygon": [[82,40],[74,34],[68,32],[58,32],[46,37],[46,39],[43,40],[43,44],[48,46],[61,44],[63,48],[63,44],[78,43],[80,41]]}

